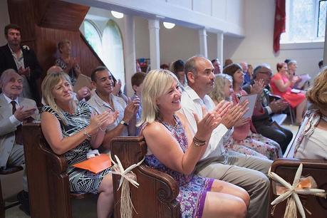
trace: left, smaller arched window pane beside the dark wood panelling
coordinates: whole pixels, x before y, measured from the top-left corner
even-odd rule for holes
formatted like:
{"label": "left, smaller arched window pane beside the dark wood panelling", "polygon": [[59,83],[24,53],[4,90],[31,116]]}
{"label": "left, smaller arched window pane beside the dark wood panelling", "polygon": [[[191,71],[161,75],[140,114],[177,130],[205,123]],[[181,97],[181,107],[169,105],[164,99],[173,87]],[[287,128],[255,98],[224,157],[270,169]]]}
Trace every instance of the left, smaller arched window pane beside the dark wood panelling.
{"label": "left, smaller arched window pane beside the dark wood panelling", "polygon": [[92,46],[95,53],[102,59],[102,43],[101,43],[101,33],[98,31],[97,26],[90,20],[85,19],[83,21],[84,26],[84,36],[90,46]]}

